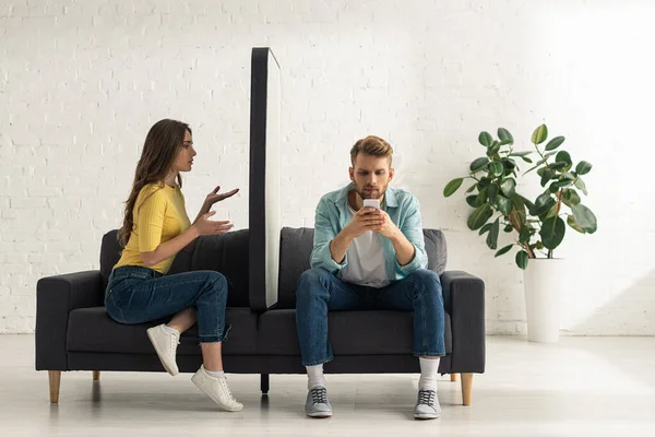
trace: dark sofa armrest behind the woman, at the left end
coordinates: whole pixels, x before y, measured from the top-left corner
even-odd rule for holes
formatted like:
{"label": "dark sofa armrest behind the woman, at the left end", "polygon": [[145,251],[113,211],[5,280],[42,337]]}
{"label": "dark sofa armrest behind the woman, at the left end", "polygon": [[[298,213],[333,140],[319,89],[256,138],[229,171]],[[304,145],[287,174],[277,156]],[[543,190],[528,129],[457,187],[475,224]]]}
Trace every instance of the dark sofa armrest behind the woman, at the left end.
{"label": "dark sofa armrest behind the woman, at the left end", "polygon": [[36,284],[36,369],[67,370],[69,312],[102,306],[103,280],[97,270],[47,276]]}

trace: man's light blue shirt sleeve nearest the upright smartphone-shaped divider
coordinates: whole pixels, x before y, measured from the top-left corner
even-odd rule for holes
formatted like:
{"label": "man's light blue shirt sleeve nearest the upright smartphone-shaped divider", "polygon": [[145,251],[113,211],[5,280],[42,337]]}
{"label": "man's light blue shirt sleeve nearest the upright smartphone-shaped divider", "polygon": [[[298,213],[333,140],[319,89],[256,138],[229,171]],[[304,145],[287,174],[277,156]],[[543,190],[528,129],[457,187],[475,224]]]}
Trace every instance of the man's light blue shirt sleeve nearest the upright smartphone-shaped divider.
{"label": "man's light blue shirt sleeve nearest the upright smartphone-shaped divider", "polygon": [[[317,206],[314,218],[314,241],[311,251],[310,265],[312,269],[322,268],[332,274],[338,273],[348,263],[348,256],[341,263],[332,259],[330,243],[341,231],[338,229],[338,216],[330,217],[330,201],[321,199]],[[331,220],[332,218],[332,220]]]}

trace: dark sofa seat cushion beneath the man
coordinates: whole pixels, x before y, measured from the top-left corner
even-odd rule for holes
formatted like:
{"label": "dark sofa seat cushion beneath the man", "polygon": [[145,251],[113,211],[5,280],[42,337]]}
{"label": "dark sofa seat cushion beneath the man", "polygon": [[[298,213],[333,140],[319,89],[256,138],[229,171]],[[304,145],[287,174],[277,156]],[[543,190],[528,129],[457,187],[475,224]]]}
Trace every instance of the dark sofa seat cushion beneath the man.
{"label": "dark sofa seat cushion beneath the man", "polygon": [[[412,354],[413,314],[409,311],[330,311],[330,342],[335,355]],[[295,309],[274,309],[260,316],[257,353],[300,355]],[[450,315],[445,314],[445,352],[453,351]]]}

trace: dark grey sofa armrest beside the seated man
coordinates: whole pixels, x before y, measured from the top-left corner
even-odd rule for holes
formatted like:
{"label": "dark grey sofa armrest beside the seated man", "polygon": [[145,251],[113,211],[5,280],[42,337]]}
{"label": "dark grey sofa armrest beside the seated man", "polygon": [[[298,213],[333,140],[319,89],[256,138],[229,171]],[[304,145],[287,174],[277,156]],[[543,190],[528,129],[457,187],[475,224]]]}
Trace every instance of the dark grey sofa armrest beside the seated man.
{"label": "dark grey sofa armrest beside the seated man", "polygon": [[453,353],[451,373],[485,371],[485,283],[462,271],[441,275],[443,304],[451,316]]}

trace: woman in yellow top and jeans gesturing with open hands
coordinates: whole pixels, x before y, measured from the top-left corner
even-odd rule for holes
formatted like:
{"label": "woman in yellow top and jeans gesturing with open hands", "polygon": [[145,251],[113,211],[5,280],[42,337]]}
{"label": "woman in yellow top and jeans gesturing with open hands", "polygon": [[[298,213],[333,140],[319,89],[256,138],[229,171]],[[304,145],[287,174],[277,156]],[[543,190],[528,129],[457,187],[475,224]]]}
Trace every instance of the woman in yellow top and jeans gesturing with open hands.
{"label": "woman in yellow top and jeans gesturing with open hands", "polygon": [[160,120],[148,131],[118,236],[124,249],[114,267],[105,293],[109,316],[120,323],[143,323],[172,316],[147,335],[170,375],[178,374],[176,351],[182,332],[198,322],[203,364],[191,380],[227,411],[243,405],[231,394],[223,371],[222,342],[226,339],[227,279],[215,271],[166,275],[177,252],[201,235],[228,232],[228,221],[212,221],[212,205],[238,189],[207,194],[195,221],[190,222],[181,192],[180,173],[190,172],[195,151],[191,129],[176,120]]}

